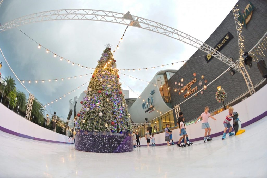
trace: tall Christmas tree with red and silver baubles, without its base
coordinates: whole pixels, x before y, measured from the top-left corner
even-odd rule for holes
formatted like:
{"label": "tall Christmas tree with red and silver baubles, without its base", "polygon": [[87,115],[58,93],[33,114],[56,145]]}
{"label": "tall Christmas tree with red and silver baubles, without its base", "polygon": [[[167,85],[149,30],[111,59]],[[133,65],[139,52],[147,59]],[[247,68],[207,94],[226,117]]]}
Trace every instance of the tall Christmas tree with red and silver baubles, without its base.
{"label": "tall Christmas tree with red and silver baubles, without its base", "polygon": [[119,83],[116,60],[107,47],[92,75],[77,114],[76,129],[84,131],[132,132],[130,115]]}

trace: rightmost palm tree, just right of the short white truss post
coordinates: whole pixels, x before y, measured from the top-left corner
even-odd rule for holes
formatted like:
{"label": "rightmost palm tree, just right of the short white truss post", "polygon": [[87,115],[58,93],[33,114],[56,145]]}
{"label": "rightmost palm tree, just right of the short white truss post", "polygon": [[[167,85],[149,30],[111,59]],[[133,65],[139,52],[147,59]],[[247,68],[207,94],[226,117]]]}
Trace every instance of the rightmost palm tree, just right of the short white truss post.
{"label": "rightmost palm tree, just right of the short white truss post", "polygon": [[[36,98],[35,98],[36,99]],[[36,99],[37,100],[37,99]],[[34,119],[34,122],[36,124],[43,124],[45,122],[44,120],[44,114],[45,114],[45,110],[44,108],[41,106],[42,103],[40,103],[41,105],[39,105],[36,100],[33,100],[33,106],[32,106],[32,112],[31,112],[31,117],[33,118],[36,118]]]}

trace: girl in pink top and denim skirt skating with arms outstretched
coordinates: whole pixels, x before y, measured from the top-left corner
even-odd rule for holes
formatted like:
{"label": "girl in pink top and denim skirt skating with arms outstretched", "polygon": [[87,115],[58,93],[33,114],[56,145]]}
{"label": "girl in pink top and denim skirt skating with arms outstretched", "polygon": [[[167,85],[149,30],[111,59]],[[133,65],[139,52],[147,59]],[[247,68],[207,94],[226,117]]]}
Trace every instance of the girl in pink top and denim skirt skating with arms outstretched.
{"label": "girl in pink top and denim skirt skating with arms outstretched", "polygon": [[[208,140],[208,141],[210,141],[210,140],[212,140],[212,138],[210,137],[210,125],[209,125],[209,123],[208,123],[208,118],[209,117],[211,117],[212,119],[214,119],[215,121],[217,121],[217,119],[215,119],[214,117],[212,117],[211,115],[210,115],[210,113],[208,113],[209,112],[209,107],[205,107],[205,112],[204,113],[202,113],[199,117],[198,117],[198,119],[200,119],[200,118],[202,118],[202,125],[201,125],[201,129],[205,129],[205,136],[204,136],[204,142],[206,141],[206,140]],[[196,122],[195,122],[195,124],[197,123],[197,121],[198,121],[198,119],[196,120]],[[208,138],[207,138],[207,132],[209,131],[209,133],[208,133]]]}

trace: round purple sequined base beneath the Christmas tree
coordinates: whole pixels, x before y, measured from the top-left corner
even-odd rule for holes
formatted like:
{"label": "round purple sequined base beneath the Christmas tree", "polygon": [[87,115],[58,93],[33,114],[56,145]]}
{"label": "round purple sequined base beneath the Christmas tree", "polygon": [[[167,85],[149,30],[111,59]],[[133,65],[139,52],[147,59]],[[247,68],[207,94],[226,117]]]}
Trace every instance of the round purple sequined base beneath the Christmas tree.
{"label": "round purple sequined base beneath the Christmas tree", "polygon": [[132,152],[133,139],[128,133],[78,131],[75,149],[95,153]]}

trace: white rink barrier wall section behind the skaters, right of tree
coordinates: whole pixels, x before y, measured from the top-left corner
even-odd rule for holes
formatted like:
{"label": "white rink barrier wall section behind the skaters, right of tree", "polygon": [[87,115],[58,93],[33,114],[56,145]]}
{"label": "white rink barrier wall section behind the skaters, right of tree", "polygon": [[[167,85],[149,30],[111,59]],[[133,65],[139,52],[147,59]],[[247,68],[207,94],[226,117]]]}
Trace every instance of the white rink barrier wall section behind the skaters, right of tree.
{"label": "white rink barrier wall section behind the skaters, right of tree", "polygon": [[[232,106],[234,108],[234,111],[236,111],[239,115],[238,118],[240,119],[242,123],[242,128],[246,127],[250,124],[253,124],[254,122],[257,122],[258,120],[264,118],[267,116],[267,85],[262,87],[260,90],[258,90],[256,93],[254,93],[252,96],[249,96],[245,100],[237,103],[236,105]],[[215,99],[215,97],[214,97]],[[203,112],[205,109],[206,105],[203,105]],[[207,105],[208,106],[208,105]],[[221,113],[218,113],[216,115],[213,115],[217,121],[209,118],[208,122],[211,127],[211,134],[210,137],[217,137],[217,136],[222,136],[224,126],[223,126],[223,121],[228,114],[228,110],[222,111]],[[199,113],[200,115],[201,113]],[[190,119],[186,118],[185,119]],[[186,126],[186,132],[189,137],[189,141],[194,142],[194,141],[200,141],[203,140],[204,138],[204,133],[205,130],[201,129],[201,121],[198,121],[196,124],[190,124]],[[233,119],[231,121],[231,125],[233,125]],[[245,129],[245,128],[244,128]],[[172,130],[172,138],[174,139],[174,143],[177,144],[179,141],[179,131],[180,129],[174,129]],[[234,131],[234,130],[232,130]],[[227,129],[226,133],[229,132],[229,129]],[[227,135],[228,136],[228,135]],[[156,146],[160,145],[167,145],[165,142],[165,133],[159,133],[154,135],[155,140],[156,140]],[[236,137],[242,137],[241,135],[238,135]],[[146,138],[142,137],[142,140],[140,141],[141,146],[147,146],[146,143]],[[150,145],[152,143],[150,142]],[[171,144],[171,143],[170,143]]]}

